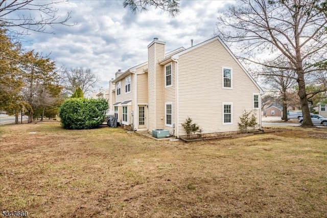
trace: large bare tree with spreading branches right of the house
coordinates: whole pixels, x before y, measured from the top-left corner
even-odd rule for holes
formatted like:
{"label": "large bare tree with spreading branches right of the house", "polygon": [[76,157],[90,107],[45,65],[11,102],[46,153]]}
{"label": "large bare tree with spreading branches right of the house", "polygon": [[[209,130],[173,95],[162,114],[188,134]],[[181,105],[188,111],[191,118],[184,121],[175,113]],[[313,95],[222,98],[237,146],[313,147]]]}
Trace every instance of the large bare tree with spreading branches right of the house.
{"label": "large bare tree with spreading branches right of the house", "polygon": [[[303,124],[313,126],[306,76],[327,68],[327,4],[322,0],[240,0],[218,18],[216,33],[240,46],[245,60],[268,68],[294,71]],[[289,66],[263,61],[270,52],[285,57]],[[276,74],[277,75],[277,74]],[[323,90],[321,90],[323,91]]]}

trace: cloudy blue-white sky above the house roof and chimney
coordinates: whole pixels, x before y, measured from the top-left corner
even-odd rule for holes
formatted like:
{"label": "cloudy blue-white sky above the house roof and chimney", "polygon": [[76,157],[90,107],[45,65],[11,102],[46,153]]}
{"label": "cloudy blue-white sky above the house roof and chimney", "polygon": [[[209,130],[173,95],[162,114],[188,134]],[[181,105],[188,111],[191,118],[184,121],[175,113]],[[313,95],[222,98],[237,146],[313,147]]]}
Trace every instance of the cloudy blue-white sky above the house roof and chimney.
{"label": "cloudy blue-white sky above the house roof and chimney", "polygon": [[122,1],[69,0],[57,5],[62,17],[72,11],[68,27],[54,26],[55,34],[31,33],[27,50],[50,54],[58,66],[89,68],[108,88],[114,73],[147,61],[147,46],[154,37],[166,41],[169,52],[189,48],[213,37],[217,14],[232,1],[180,1],[180,14],[170,17],[160,9],[133,14]]}

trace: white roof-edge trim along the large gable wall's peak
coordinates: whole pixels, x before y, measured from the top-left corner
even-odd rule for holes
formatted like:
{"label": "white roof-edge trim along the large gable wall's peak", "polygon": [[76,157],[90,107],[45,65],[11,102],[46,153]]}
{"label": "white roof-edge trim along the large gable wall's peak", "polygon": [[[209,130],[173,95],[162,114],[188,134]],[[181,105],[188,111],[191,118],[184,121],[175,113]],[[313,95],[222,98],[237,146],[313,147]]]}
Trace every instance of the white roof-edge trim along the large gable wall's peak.
{"label": "white roof-edge trim along the large gable wall's peak", "polygon": [[[241,64],[241,62],[236,58],[236,56],[230,51],[230,49],[226,46],[226,44],[223,42],[223,40],[219,37],[219,36],[215,36],[215,37],[213,37],[213,38],[211,38],[211,39],[208,39],[208,40],[206,40],[206,41],[203,41],[203,42],[201,42],[201,43],[198,43],[197,45],[195,45],[195,46],[193,46],[193,47],[190,47],[190,48],[188,48],[188,49],[185,49],[185,50],[183,50],[183,51],[181,51],[181,52],[178,52],[178,53],[176,53],[176,54],[174,54],[174,55],[172,55],[172,59],[174,59],[174,60],[178,60],[179,59],[179,56],[180,55],[182,55],[182,54],[185,54],[185,53],[187,53],[187,52],[190,52],[190,51],[192,51],[192,50],[194,50],[194,49],[197,49],[197,48],[199,48],[199,47],[201,47],[201,46],[204,46],[204,45],[206,45],[207,43],[210,43],[210,42],[212,42],[212,41],[215,41],[215,40],[218,40],[220,43],[221,43],[221,45],[226,49],[226,51],[231,55],[231,57],[239,64],[239,66],[242,68],[242,70],[246,73],[246,75],[251,79],[251,81],[254,83],[254,85],[256,86],[256,88],[258,88],[259,90],[260,90],[260,93],[261,94],[263,94],[264,93],[264,91],[261,89],[261,87],[258,85],[258,83],[256,83],[255,82],[255,80],[253,79],[253,77],[249,74],[249,72],[247,72],[247,70],[243,67],[243,65]],[[162,61],[161,61],[162,62]]]}

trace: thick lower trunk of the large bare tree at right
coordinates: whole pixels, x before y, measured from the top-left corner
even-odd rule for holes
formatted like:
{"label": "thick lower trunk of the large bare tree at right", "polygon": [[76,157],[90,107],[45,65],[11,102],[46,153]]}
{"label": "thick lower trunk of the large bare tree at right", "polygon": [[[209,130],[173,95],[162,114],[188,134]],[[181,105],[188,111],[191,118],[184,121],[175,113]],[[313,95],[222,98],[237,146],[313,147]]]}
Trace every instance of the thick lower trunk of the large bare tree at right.
{"label": "thick lower trunk of the large bare tree at right", "polygon": [[297,72],[297,83],[298,83],[298,96],[300,98],[301,103],[301,110],[303,116],[302,126],[313,126],[311,116],[310,116],[310,109],[307,99],[307,92],[306,92],[306,83],[303,71]]}

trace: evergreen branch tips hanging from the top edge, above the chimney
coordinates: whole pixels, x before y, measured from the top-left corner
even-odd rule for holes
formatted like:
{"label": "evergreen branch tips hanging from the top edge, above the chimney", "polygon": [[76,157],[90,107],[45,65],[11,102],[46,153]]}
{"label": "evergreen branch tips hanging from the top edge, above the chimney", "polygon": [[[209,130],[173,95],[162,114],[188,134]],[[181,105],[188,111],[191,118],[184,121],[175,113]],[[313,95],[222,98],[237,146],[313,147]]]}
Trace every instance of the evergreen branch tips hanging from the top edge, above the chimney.
{"label": "evergreen branch tips hanging from the top edge, above the chimney", "polygon": [[124,8],[129,9],[136,13],[137,11],[148,11],[150,6],[159,8],[162,11],[168,12],[172,17],[176,16],[179,10],[179,0],[124,0]]}

